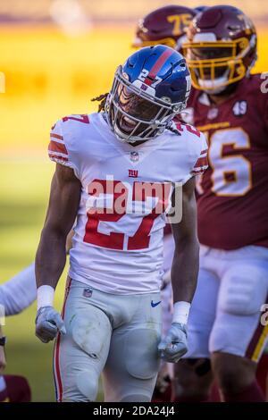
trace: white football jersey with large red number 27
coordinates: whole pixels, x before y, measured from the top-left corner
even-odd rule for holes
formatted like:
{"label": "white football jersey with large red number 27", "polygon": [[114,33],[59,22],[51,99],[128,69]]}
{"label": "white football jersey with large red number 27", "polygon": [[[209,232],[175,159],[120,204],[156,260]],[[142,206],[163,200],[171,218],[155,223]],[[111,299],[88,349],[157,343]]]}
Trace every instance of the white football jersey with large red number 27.
{"label": "white football jersey with large red number 27", "polygon": [[72,279],[114,294],[159,290],[163,226],[175,183],[206,168],[204,134],[178,124],[136,147],[117,139],[104,113],[55,123],[49,156],[81,182]]}

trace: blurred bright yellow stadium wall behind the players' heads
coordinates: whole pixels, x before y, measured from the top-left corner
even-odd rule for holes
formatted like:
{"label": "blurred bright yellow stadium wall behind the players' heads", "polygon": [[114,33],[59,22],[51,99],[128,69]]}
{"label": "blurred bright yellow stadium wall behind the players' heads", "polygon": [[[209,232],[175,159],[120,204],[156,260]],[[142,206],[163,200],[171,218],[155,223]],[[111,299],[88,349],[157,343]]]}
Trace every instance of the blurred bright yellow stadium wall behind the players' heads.
{"label": "blurred bright yellow stadium wall behind the players' heads", "polygon": [[[110,88],[113,72],[130,54],[133,28],[99,28],[78,37],[57,29],[6,28],[0,31],[2,154],[29,155],[46,148],[55,120],[96,110],[91,97]],[[268,70],[268,29],[259,30],[255,71]]]}

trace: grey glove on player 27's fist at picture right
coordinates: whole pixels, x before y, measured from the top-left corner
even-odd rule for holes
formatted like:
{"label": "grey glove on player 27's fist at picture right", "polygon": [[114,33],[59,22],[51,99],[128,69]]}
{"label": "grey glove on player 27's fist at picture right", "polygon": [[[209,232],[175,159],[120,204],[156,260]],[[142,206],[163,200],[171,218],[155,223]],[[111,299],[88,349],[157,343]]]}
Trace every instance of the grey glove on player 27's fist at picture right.
{"label": "grey glove on player 27's fist at picture right", "polygon": [[177,363],[188,351],[186,325],[172,323],[166,337],[158,345],[158,351],[165,362]]}

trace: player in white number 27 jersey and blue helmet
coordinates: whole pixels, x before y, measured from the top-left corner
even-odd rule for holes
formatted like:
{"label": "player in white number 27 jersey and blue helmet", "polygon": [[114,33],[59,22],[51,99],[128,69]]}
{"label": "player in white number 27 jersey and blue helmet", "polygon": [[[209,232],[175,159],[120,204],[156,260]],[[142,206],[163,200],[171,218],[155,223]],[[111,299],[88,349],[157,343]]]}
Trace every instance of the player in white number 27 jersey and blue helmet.
{"label": "player in white number 27 jersey and blue helmet", "polygon": [[[150,401],[159,356],[177,362],[187,351],[198,271],[194,175],[206,168],[204,134],[173,123],[189,81],[180,53],[146,47],[118,68],[104,110],[54,124],[49,156],[56,169],[36,258],[36,333],[47,342],[59,332],[59,401],[95,400],[101,373],[106,401]],[[160,340],[163,226],[171,206],[182,218],[175,211],[173,318]],[[61,316],[54,289],[76,217]]]}

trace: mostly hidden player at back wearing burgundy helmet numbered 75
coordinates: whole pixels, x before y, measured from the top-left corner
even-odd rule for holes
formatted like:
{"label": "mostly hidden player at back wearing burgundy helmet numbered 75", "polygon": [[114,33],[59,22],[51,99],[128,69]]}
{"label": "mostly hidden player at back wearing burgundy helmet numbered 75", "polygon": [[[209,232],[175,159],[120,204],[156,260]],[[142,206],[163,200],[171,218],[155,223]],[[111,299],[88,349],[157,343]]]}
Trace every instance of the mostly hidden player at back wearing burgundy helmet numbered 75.
{"label": "mostly hidden player at back wearing burgundy helmet numbered 75", "polygon": [[[132,46],[140,48],[156,44],[171,46],[182,53],[182,44],[187,39],[186,31],[190,21],[197,14],[196,9],[180,5],[167,5],[148,13],[138,21]],[[167,223],[164,228],[163,239],[163,333],[167,332],[172,322],[172,284],[171,266],[174,253],[174,240],[171,226]],[[158,374],[153,400],[155,402],[170,401],[172,365],[162,363]]]}

